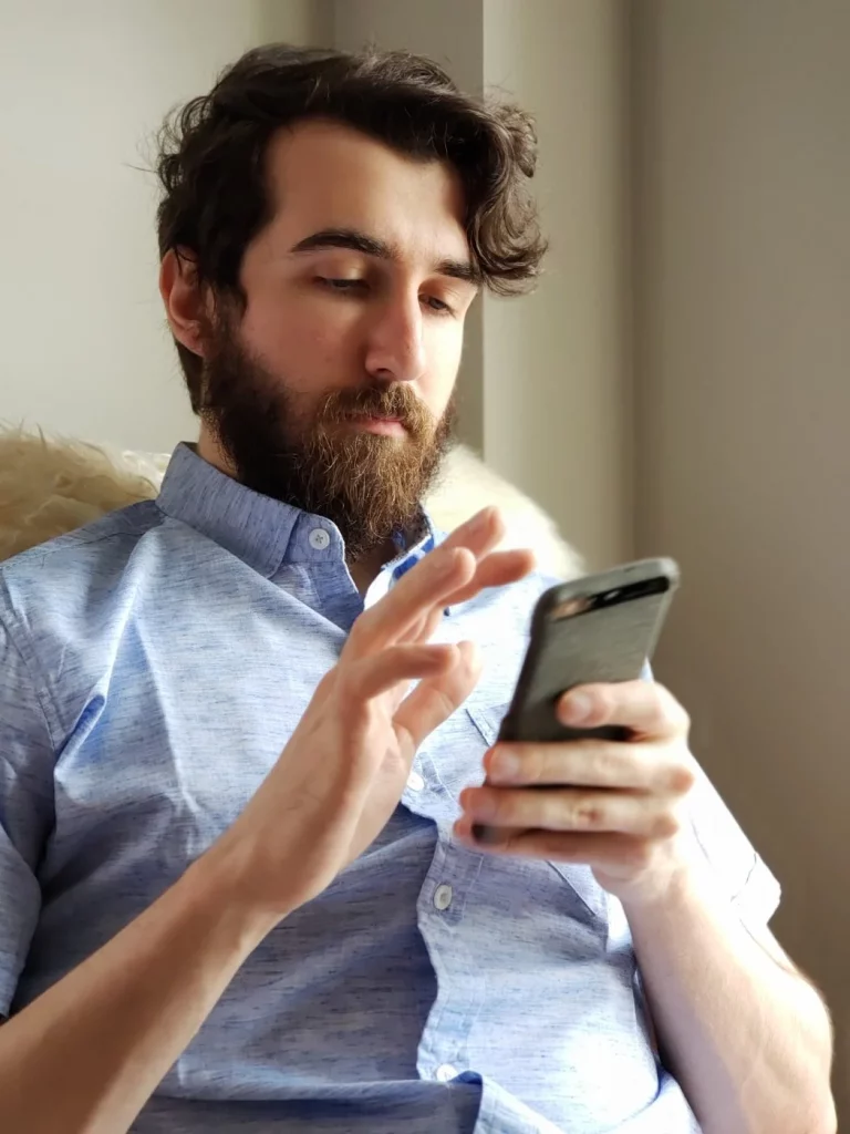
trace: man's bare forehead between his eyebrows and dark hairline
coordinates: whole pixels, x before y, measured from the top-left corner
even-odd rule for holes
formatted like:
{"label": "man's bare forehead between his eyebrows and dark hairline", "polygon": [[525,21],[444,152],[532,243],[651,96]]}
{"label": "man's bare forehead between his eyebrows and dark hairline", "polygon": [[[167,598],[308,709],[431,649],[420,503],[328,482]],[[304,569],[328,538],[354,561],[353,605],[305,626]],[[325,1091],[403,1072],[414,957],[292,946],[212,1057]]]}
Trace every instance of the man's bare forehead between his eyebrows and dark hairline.
{"label": "man's bare forehead between his eyebrows and dark hairline", "polygon": [[266,175],[275,251],[329,228],[357,229],[405,260],[468,260],[460,178],[444,162],[415,161],[358,130],[307,121],[277,134]]}

